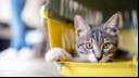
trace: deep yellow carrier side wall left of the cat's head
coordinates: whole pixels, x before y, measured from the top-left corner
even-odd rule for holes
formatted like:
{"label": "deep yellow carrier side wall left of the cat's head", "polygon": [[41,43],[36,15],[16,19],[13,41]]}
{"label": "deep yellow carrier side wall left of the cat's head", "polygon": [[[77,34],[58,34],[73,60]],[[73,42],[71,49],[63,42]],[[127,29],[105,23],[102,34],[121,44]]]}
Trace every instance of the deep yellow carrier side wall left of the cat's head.
{"label": "deep yellow carrier side wall left of the cat's head", "polygon": [[49,18],[47,11],[43,11],[42,15],[48,24],[50,48],[62,47],[68,52],[72,52],[75,49],[74,26]]}

